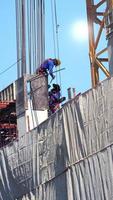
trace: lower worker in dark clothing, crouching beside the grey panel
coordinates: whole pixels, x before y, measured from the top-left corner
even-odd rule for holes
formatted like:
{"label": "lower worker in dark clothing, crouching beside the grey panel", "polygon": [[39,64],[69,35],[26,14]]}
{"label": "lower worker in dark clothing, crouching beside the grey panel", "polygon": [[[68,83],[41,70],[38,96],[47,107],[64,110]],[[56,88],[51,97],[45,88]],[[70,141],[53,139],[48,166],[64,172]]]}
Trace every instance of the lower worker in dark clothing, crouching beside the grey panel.
{"label": "lower worker in dark clothing, crouching beside the grey panel", "polygon": [[65,97],[61,98],[60,86],[53,84],[53,88],[49,92],[49,110],[50,113],[55,113],[60,108],[60,103],[65,100]]}

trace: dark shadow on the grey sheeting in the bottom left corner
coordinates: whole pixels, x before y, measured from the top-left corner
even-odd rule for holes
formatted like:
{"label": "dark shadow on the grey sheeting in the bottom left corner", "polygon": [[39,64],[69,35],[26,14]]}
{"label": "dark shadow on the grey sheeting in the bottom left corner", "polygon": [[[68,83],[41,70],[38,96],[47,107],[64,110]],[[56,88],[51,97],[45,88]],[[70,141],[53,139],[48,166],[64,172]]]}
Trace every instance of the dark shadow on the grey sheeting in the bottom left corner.
{"label": "dark shadow on the grey sheeting in the bottom left corner", "polygon": [[[5,149],[2,149],[0,152],[0,199],[3,200],[12,200],[12,199],[21,199],[21,197],[27,193],[29,194],[29,186],[26,183],[26,173],[24,166],[16,168],[17,173],[20,175],[20,178],[24,174],[24,182],[20,182],[15,171],[11,170],[7,156],[5,155]],[[22,177],[23,179],[23,177]],[[32,186],[32,180],[31,180]],[[29,200],[31,200],[31,195],[28,195]]]}

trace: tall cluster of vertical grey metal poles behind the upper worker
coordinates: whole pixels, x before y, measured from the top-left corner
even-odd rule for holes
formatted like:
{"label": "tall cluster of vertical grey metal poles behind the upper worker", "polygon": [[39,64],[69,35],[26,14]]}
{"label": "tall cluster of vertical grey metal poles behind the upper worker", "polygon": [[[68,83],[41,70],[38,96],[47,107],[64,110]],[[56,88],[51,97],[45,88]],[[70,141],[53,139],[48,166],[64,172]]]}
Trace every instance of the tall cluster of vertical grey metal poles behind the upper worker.
{"label": "tall cluster of vertical grey metal poles behind the upper worker", "polygon": [[18,78],[33,74],[45,57],[45,2],[18,0],[16,5],[16,35]]}

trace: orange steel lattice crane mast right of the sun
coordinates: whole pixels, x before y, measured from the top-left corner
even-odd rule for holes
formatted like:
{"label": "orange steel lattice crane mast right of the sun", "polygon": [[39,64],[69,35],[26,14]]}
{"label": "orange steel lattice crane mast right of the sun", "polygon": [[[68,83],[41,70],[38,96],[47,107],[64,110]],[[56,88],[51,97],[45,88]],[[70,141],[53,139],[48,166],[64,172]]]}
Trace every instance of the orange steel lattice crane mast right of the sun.
{"label": "orange steel lattice crane mast right of the sun", "polygon": [[[105,28],[105,18],[107,15],[107,2],[106,0],[95,1],[86,0],[87,7],[87,21],[88,21],[88,33],[89,33],[89,57],[91,66],[91,79],[92,87],[95,87],[99,83],[99,69],[101,69],[107,77],[110,77],[110,73],[106,66],[103,64],[108,62],[108,57],[104,57],[103,53],[107,51],[107,46],[99,49],[99,41],[102,37],[103,29]],[[102,11],[98,11],[103,9]],[[98,25],[98,31],[95,31],[95,25]]]}

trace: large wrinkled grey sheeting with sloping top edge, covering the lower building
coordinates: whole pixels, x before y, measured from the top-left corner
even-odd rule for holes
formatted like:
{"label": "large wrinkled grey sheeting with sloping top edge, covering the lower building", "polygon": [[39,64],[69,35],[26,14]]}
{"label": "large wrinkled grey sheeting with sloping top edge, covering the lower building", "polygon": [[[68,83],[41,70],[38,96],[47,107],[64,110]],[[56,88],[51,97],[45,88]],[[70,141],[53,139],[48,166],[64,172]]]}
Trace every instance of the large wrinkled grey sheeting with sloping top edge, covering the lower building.
{"label": "large wrinkled grey sheeting with sloping top edge, covering the lower building", "polygon": [[113,78],[0,150],[0,200],[113,198]]}

